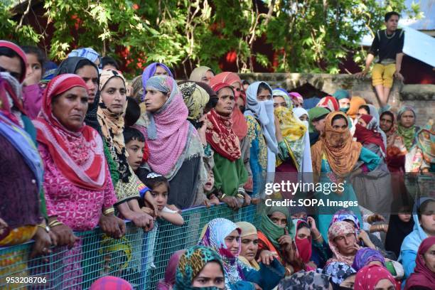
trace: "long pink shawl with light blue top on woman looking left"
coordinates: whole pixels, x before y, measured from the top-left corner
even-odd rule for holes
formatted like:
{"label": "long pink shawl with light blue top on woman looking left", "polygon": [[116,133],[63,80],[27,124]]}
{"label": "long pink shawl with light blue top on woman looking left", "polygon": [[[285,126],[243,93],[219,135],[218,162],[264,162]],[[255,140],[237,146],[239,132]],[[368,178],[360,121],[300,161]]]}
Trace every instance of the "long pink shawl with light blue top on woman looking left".
{"label": "long pink shawl with light blue top on woman looking left", "polygon": [[188,120],[188,108],[183,102],[176,81],[168,75],[156,75],[146,82],[146,88],[153,87],[169,95],[163,107],[149,113],[149,125],[145,130],[149,146],[149,166],[154,172],[166,175],[178,164],[188,144],[192,126]]}

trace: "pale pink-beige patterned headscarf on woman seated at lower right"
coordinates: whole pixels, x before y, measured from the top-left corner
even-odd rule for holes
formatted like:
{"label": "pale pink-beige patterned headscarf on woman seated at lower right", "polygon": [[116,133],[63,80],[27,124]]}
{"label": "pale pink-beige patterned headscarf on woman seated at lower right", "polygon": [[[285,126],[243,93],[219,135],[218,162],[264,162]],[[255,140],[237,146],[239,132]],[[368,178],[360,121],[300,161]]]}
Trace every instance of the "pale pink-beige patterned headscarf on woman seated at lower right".
{"label": "pale pink-beige patterned headscarf on woman seated at lower right", "polygon": [[355,241],[358,240],[355,229],[353,225],[350,225],[349,222],[334,222],[329,227],[328,241],[329,248],[331,249],[331,252],[333,252],[333,257],[331,259],[328,259],[328,262],[326,262],[326,264],[329,264],[331,262],[343,262],[348,264],[349,266],[353,264],[353,259],[355,258],[355,255],[345,256],[343,254],[340,254],[340,251],[338,250],[338,247],[334,242],[335,237],[344,236],[352,233],[355,235]]}

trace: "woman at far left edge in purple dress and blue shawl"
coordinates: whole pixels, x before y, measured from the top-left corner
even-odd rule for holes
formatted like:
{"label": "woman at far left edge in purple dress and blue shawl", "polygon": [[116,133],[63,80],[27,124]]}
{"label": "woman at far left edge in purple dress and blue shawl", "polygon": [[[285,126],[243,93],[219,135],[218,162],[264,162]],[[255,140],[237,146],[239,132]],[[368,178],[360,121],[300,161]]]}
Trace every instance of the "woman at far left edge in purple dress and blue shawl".
{"label": "woman at far left edge in purple dress and blue shawl", "polygon": [[[0,247],[33,238],[36,242],[31,257],[34,257],[48,254],[51,245],[44,220],[47,215],[42,190],[43,162],[35,136],[29,134],[35,128],[23,114],[18,80],[10,75],[5,80],[6,74],[9,75],[0,73]],[[28,120],[27,131],[24,119]]]}

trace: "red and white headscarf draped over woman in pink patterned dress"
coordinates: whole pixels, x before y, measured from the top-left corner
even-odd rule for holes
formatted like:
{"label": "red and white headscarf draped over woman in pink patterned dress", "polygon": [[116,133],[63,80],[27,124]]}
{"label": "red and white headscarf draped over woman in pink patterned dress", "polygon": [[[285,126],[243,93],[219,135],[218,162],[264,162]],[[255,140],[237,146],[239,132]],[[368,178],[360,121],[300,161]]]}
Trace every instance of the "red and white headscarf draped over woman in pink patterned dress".
{"label": "red and white headscarf draped over woman in pink patterned dress", "polygon": [[36,139],[48,148],[59,171],[80,188],[102,190],[106,184],[106,160],[98,132],[83,123],[78,131],[70,131],[53,116],[53,97],[73,87],[84,87],[78,75],[58,75],[48,83],[43,96],[41,114],[33,121]]}

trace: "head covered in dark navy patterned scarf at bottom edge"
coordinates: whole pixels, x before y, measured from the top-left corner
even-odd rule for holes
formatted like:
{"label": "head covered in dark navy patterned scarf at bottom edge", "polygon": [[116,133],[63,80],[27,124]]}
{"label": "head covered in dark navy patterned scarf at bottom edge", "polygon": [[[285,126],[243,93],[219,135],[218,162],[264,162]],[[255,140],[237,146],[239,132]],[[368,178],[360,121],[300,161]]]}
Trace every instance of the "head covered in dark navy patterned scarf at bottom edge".
{"label": "head covered in dark navy patterned scarf at bottom edge", "polygon": [[278,290],[328,290],[331,289],[329,276],[314,271],[301,271],[291,275],[289,278],[281,280]]}

